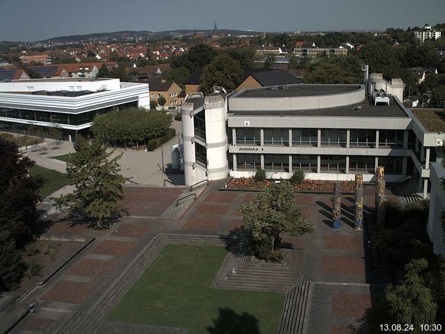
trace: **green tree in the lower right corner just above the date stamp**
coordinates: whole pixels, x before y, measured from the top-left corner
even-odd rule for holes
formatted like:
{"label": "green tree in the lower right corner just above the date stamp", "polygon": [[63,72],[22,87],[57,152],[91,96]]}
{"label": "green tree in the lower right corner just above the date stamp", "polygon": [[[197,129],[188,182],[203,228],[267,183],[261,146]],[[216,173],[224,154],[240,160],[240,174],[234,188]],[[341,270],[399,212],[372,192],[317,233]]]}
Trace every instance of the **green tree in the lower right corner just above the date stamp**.
{"label": "green tree in the lower right corner just above the date stamp", "polygon": [[437,304],[432,301],[431,290],[424,285],[421,271],[428,268],[425,259],[412,260],[405,266],[401,284],[389,285],[385,292],[391,319],[395,324],[412,324],[420,332],[421,324],[435,321]]}

